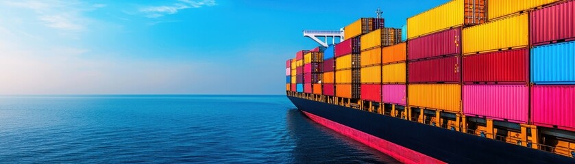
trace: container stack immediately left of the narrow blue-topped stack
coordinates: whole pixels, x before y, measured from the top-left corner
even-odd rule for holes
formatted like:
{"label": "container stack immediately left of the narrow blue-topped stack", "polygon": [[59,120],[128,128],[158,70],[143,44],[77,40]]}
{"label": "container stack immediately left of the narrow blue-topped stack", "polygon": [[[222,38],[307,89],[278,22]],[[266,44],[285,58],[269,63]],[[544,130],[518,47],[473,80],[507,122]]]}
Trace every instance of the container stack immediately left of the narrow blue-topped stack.
{"label": "container stack immediately left of the narrow blue-topped stack", "polygon": [[321,94],[323,73],[323,48],[316,48],[304,55],[304,93]]}

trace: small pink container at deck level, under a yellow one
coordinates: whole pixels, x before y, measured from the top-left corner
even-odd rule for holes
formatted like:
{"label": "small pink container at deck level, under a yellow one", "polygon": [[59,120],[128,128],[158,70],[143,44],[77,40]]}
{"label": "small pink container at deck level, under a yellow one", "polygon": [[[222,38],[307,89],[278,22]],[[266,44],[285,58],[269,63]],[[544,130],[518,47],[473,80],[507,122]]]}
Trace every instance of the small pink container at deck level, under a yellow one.
{"label": "small pink container at deck level, under a yellow one", "polygon": [[384,84],[381,93],[384,103],[406,105],[407,92],[404,84]]}

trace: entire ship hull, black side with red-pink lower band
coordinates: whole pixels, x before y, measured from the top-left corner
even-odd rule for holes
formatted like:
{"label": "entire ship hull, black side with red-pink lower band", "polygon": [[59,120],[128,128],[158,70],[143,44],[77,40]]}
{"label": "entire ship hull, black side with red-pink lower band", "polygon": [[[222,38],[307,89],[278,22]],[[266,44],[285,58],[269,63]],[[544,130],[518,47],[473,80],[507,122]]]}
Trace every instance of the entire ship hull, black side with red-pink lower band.
{"label": "entire ship hull, black side with red-pink lower band", "polygon": [[575,163],[533,148],[326,102],[288,96],[311,120],[402,163]]}

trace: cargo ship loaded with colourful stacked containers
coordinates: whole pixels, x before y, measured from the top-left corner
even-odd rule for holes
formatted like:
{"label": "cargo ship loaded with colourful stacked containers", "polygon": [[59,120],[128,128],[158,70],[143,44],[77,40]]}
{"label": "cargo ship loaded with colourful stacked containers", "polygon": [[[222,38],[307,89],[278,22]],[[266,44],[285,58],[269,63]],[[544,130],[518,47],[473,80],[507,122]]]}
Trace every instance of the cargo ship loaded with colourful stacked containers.
{"label": "cargo ship loaded with colourful stacked containers", "polygon": [[304,31],[286,95],[310,120],[402,163],[575,163],[575,1],[380,13]]}

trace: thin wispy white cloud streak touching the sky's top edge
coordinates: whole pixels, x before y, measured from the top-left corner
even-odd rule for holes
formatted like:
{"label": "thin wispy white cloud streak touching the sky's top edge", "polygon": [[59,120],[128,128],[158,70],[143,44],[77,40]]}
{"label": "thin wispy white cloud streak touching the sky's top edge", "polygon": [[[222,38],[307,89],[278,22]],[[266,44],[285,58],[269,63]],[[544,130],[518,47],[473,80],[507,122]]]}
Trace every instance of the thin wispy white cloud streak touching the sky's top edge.
{"label": "thin wispy white cloud streak touching the sky's top edge", "polygon": [[176,14],[180,10],[189,8],[201,8],[204,6],[214,6],[217,5],[215,0],[203,0],[203,1],[190,1],[190,0],[179,0],[179,3],[173,3],[171,5],[159,5],[159,6],[149,6],[146,8],[141,8],[140,12],[145,13],[148,18],[160,18],[162,16]]}

